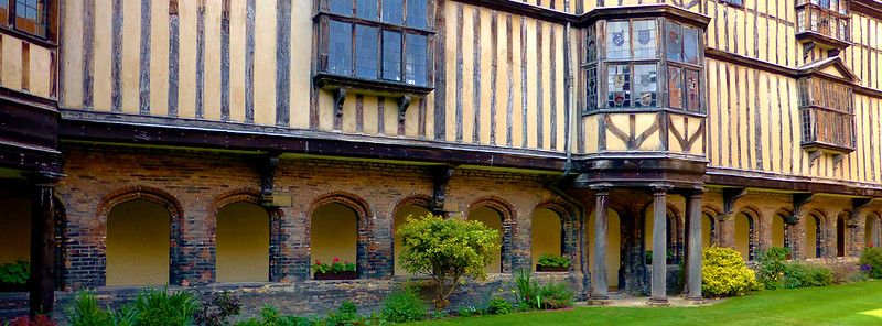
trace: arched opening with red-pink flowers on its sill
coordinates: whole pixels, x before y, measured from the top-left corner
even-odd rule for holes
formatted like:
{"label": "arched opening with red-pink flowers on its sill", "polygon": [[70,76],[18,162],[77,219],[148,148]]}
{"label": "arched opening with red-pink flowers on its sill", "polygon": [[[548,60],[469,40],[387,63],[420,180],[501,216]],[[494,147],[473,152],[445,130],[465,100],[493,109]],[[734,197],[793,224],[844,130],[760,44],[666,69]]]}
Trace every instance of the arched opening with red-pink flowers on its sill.
{"label": "arched opening with red-pink flowers on its sill", "polygon": [[[315,208],[310,222],[310,250],[313,263],[356,262],[358,215],[346,205],[329,203]],[[357,263],[356,263],[357,264]],[[312,273],[312,272],[310,272]]]}

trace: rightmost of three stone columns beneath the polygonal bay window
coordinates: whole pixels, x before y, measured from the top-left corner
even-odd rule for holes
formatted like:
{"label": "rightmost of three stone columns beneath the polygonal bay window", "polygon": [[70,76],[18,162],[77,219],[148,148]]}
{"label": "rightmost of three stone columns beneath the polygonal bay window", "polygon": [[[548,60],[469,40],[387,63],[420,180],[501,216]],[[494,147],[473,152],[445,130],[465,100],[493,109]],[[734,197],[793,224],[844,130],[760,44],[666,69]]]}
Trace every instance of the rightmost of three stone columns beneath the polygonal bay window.
{"label": "rightmost of three stone columns beneath the polygonal bay window", "polygon": [[703,189],[696,189],[686,199],[688,214],[689,250],[687,257],[687,300],[701,301],[701,202]]}

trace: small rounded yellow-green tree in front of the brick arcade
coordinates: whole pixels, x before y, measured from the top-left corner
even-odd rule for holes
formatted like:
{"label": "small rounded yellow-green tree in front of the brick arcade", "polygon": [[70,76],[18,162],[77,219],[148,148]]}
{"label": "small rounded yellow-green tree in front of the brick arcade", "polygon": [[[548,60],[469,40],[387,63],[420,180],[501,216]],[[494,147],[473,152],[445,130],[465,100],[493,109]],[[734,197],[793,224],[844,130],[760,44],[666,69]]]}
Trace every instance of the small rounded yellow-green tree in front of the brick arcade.
{"label": "small rounded yellow-green tree in front of the brick arcade", "polygon": [[435,309],[448,304],[462,276],[486,279],[484,268],[499,249],[499,231],[480,221],[443,219],[431,214],[398,228],[401,254],[398,261],[411,273],[429,274],[435,281]]}

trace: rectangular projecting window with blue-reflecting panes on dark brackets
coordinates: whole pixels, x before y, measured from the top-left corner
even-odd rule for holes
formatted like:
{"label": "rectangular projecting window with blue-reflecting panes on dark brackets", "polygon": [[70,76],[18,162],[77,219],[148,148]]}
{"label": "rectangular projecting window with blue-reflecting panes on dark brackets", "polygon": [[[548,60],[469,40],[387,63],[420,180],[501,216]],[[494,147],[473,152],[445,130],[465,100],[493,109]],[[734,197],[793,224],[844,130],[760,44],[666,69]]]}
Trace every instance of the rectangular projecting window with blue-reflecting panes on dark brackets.
{"label": "rectangular projecting window with blue-reflecting panes on dark brackets", "polygon": [[431,89],[431,0],[316,0],[316,80]]}

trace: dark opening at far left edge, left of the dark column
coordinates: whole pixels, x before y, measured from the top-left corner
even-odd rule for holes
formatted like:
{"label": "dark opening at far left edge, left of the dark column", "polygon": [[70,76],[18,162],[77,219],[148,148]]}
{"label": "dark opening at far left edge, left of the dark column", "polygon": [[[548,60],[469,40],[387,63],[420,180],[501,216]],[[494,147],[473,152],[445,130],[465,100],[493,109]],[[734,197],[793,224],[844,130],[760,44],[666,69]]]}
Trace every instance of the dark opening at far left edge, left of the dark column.
{"label": "dark opening at far left edge, left of the dark column", "polygon": [[0,264],[31,260],[31,200],[0,198]]}

